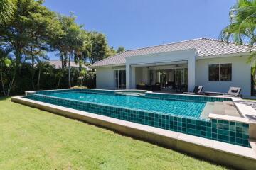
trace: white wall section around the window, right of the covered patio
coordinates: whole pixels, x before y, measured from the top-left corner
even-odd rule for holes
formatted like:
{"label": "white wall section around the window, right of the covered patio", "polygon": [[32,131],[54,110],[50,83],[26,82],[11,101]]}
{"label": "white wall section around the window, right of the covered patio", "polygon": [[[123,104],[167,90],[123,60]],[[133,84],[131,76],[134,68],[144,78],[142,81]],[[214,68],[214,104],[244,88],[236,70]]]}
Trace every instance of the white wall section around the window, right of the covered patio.
{"label": "white wall section around the window, right of the covered patio", "polygon": [[[209,81],[209,64],[232,64],[231,81]],[[250,96],[251,69],[247,57],[218,57],[196,60],[196,86],[203,86],[203,91],[227,93],[230,86],[242,88],[241,94]],[[188,73],[189,74],[189,73]]]}

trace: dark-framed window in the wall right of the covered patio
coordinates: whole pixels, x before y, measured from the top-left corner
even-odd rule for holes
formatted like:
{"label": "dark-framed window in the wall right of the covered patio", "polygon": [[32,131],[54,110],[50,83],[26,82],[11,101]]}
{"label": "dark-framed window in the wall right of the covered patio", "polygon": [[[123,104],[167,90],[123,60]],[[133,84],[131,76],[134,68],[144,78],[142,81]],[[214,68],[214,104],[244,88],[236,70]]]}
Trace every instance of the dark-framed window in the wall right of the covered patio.
{"label": "dark-framed window in the wall right of the covered patio", "polygon": [[210,64],[209,81],[231,81],[232,64]]}

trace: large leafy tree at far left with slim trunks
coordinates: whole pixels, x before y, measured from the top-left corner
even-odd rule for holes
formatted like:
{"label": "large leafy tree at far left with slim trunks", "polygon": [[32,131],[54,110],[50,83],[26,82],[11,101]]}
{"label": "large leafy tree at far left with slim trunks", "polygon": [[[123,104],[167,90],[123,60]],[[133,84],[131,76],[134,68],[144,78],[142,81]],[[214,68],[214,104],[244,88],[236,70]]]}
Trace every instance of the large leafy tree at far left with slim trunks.
{"label": "large leafy tree at far left with slim trunks", "polygon": [[50,50],[50,42],[61,33],[57,16],[43,6],[42,0],[16,0],[14,16],[0,28],[0,39],[14,48],[16,71],[22,61],[31,58],[33,81],[34,58]]}

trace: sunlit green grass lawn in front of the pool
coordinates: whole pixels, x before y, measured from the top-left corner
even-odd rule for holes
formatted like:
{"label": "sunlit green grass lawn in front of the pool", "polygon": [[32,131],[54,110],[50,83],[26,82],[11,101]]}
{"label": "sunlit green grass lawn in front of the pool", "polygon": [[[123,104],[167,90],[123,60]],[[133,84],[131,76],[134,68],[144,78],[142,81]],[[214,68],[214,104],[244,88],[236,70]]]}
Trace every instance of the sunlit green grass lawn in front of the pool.
{"label": "sunlit green grass lawn in front of the pool", "polygon": [[0,98],[0,169],[225,169]]}

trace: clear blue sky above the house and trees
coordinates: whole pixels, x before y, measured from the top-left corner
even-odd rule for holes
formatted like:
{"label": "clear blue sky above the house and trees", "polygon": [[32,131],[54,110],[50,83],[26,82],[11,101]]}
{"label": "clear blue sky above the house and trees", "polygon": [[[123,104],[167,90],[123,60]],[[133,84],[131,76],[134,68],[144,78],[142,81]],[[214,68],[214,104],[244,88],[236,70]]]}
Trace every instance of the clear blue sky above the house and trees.
{"label": "clear blue sky above the house and trees", "polygon": [[218,38],[234,4],[235,0],[46,0],[44,5],[58,13],[75,13],[86,30],[104,33],[110,46],[131,50]]}

